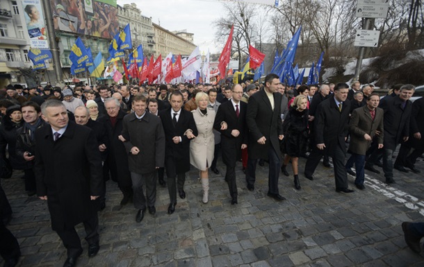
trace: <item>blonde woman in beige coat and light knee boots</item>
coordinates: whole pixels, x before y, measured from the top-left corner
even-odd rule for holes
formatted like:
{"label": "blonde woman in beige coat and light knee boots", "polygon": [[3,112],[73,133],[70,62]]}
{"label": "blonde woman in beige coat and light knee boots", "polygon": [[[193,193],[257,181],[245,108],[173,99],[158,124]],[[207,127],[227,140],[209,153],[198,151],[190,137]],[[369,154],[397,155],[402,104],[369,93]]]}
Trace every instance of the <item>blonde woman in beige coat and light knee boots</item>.
{"label": "blonde woman in beige coat and light knee boots", "polygon": [[198,135],[190,141],[190,164],[200,171],[203,187],[203,203],[208,203],[209,178],[208,169],[213,160],[215,150],[215,139],[213,137],[213,121],[215,111],[208,109],[209,97],[204,92],[196,95],[197,109],[193,110],[193,118],[197,126]]}

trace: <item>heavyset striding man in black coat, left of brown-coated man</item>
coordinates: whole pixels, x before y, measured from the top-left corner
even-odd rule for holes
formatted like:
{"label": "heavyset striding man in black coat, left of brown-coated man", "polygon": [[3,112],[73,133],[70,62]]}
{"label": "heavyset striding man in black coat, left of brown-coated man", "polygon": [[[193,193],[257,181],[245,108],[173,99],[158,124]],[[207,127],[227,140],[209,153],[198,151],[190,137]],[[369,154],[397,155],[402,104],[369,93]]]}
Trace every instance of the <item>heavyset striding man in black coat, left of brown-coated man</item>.
{"label": "heavyset striding man in black coat, left of brown-coated man", "polygon": [[304,167],[304,175],[312,180],[313,171],[323,157],[323,153],[331,156],[334,164],[336,191],[352,193],[348,189],[348,175],[345,169],[346,147],[350,101],[346,101],[349,85],[339,83],[331,95],[318,105],[314,120],[316,147],[313,148]]}

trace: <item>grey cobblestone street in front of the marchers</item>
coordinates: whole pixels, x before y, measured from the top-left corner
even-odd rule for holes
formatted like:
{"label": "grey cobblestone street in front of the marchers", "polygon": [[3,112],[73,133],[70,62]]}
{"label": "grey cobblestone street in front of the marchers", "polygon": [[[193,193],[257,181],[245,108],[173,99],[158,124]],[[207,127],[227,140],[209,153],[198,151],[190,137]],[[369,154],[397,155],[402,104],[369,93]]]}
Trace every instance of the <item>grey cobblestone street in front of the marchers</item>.
{"label": "grey cobblestone street in front of the marchers", "polygon": [[[417,166],[424,172],[422,159]],[[167,213],[168,189],[158,186],[156,216],[147,213],[141,223],[131,204],[120,207],[121,193],[108,181],[106,209],[99,212],[99,254],[88,258],[82,241],[77,266],[424,266],[400,226],[424,221],[422,175],[394,170],[397,183],[389,187],[382,174],[368,172],[364,191],[353,188],[349,176],[356,190],[344,194],[334,190],[333,170],[320,164],[313,181],[300,172],[301,191],[291,176],[280,175],[287,200],[279,203],[266,196],[268,164],[258,166],[253,192],[245,188],[240,163],[237,168],[238,205],[230,205],[224,178],[214,174],[210,201],[203,204],[192,169],[187,198],[179,199],[174,214]],[[225,173],[222,164],[218,169]],[[22,250],[18,266],[63,266],[65,248],[51,230],[47,203],[27,197],[19,176],[1,181],[14,212],[8,228]],[[77,229],[82,237],[82,225]]]}

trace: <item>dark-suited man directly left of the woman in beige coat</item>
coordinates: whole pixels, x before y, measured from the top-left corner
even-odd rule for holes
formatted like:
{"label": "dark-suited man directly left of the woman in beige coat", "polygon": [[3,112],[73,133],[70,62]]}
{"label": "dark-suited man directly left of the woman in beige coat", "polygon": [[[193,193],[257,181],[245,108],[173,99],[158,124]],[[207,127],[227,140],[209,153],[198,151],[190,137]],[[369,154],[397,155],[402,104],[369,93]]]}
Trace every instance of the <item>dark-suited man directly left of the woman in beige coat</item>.
{"label": "dark-suited man directly left of the woman in beige coat", "polygon": [[186,172],[190,171],[190,139],[197,136],[193,114],[181,108],[183,95],[179,91],[172,92],[170,104],[171,107],[168,110],[159,112],[165,131],[165,169],[171,202],[168,214],[175,211],[177,187],[179,197],[186,198],[184,182],[186,181]]}

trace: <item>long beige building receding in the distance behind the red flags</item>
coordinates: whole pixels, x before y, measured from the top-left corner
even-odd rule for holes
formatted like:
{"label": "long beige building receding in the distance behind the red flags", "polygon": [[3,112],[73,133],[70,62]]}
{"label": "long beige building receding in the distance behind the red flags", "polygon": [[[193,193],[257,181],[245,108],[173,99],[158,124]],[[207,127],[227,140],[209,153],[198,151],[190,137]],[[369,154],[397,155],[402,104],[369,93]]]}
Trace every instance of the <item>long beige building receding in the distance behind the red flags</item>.
{"label": "long beige building receding in the distance behind the red flags", "polygon": [[196,48],[196,45],[193,44],[193,42],[162,28],[158,24],[153,24],[153,27],[156,38],[156,57],[158,57],[158,55],[165,57],[169,53],[172,53],[173,55],[190,55],[190,53]]}

